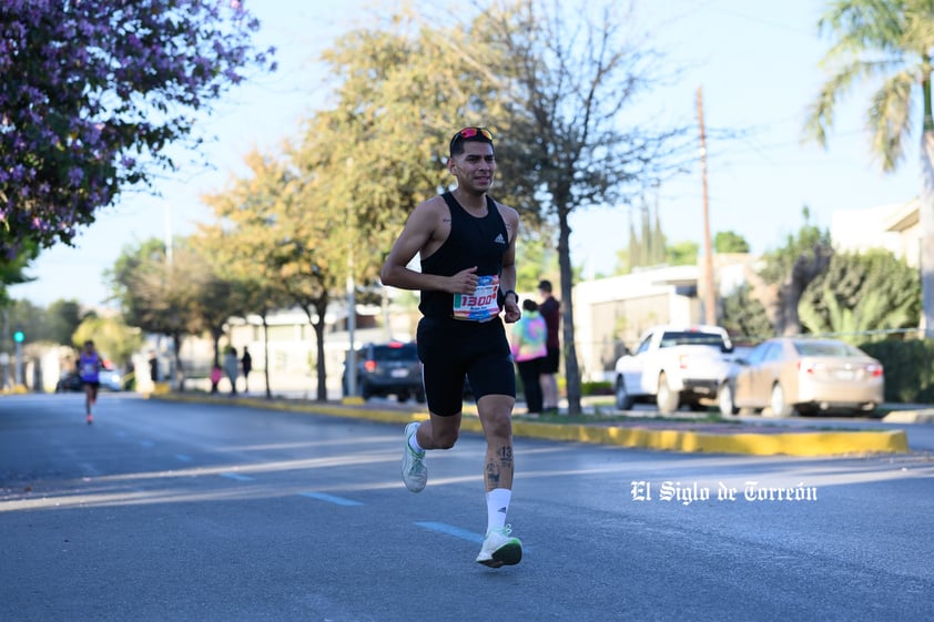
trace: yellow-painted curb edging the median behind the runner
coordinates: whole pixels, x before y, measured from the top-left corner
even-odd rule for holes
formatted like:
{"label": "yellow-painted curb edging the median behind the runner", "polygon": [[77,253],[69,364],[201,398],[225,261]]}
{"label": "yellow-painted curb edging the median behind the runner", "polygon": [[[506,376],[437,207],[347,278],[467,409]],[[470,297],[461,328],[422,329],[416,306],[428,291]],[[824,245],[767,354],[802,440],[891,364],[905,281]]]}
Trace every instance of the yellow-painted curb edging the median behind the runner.
{"label": "yellow-painted curb edging the median behind the runner", "polygon": [[[215,404],[326,415],[365,419],[379,424],[424,421],[427,412],[379,410],[370,408],[332,406],[327,404],[292,402],[261,398],[214,398],[184,394],[152,396],[155,399],[183,402]],[[483,434],[479,419],[465,416],[461,429]],[[615,445],[684,453],[744,453],[750,456],[840,456],[852,453],[907,453],[908,439],[904,430],[802,430],[792,432],[732,432],[710,434],[690,429],[652,429],[649,427],[542,424],[512,420],[512,435],[572,442]]]}

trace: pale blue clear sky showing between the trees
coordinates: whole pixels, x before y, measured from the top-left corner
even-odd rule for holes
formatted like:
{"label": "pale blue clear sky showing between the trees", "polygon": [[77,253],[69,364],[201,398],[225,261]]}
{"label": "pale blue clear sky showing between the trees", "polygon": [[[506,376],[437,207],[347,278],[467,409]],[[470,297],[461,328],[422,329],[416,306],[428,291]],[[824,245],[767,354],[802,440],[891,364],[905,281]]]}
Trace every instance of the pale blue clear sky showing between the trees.
{"label": "pale blue clear sky showing between the trees", "polygon": [[[388,1],[388,0],[387,0]],[[385,4],[385,2],[383,3]],[[437,2],[415,2],[436,8]],[[126,245],[153,236],[187,235],[209,222],[204,194],[223,190],[243,174],[253,149],[276,150],[296,135],[303,118],[327,105],[323,65],[316,60],[333,38],[366,20],[373,0],[247,0],[263,23],[257,43],[278,48],[280,70],[238,86],[200,115],[215,135],[204,150],[210,167],[183,166],[156,184],[158,196],[126,193],[99,212],[74,246],[44,251],[27,269],[34,277],[10,295],[47,306],[58,299],[108,305],[104,272]],[[904,203],[917,195],[920,166],[912,144],[899,172],[883,174],[871,156],[863,116],[870,90],[840,103],[829,149],[802,143],[808,105],[825,80],[820,60],[830,40],[818,31],[824,2],[816,0],[642,0],[633,23],[681,68],[677,80],[643,96],[633,112],[653,111],[697,124],[697,93],[703,93],[708,132],[708,197],[712,233],[733,231],[754,253],[783,244],[803,224],[829,228],[839,210]],[[646,114],[646,112],[649,114]],[[495,120],[489,123],[495,128]],[[453,131],[456,128],[453,129]],[[742,131],[740,139],[720,137]],[[917,141],[913,141],[916,143]],[[495,193],[493,193],[495,194]],[[703,194],[700,166],[663,184],[650,202],[658,206],[669,242],[702,244]],[[610,274],[629,241],[628,206],[591,207],[571,217],[571,261],[585,277]],[[521,241],[520,241],[521,242]]]}

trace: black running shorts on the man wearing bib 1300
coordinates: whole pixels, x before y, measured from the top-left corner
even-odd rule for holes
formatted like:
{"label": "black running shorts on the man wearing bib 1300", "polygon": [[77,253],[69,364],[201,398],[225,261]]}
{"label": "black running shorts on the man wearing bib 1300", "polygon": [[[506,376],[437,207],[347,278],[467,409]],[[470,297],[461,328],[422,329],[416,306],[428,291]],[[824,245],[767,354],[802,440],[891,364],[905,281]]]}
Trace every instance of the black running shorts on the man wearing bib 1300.
{"label": "black running shorts on the man wearing bib 1300", "polygon": [[423,317],[416,343],[430,412],[441,417],[460,412],[465,376],[478,400],[486,395],[516,397],[516,371],[501,319]]}

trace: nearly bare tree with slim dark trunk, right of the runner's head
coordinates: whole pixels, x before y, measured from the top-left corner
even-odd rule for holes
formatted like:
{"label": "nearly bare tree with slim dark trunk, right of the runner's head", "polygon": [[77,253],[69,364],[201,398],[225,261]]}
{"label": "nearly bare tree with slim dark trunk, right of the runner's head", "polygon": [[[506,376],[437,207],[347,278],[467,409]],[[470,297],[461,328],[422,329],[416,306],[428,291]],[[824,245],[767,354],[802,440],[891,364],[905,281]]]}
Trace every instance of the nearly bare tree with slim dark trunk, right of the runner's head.
{"label": "nearly bare tree with slim dark trunk, right of the runner's head", "polygon": [[[651,86],[652,51],[634,27],[631,6],[519,0],[483,13],[479,41],[499,53],[496,72],[511,114],[517,151],[507,180],[534,191],[544,220],[557,223],[562,349],[568,409],[580,412],[571,289],[569,216],[576,208],[639,196],[670,163],[680,129],[642,124],[627,114]],[[515,174],[511,174],[516,171]]]}

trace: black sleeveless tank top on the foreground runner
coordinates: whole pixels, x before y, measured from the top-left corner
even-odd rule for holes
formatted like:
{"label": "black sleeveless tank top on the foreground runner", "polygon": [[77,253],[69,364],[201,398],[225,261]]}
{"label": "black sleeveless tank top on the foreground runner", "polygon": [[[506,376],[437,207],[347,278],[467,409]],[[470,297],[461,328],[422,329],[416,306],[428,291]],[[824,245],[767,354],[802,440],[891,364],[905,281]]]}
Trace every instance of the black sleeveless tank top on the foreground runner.
{"label": "black sleeveless tank top on the foreground runner", "polygon": [[[477,266],[478,276],[502,272],[502,254],[509,246],[506,223],[496,202],[487,196],[487,214],[471,216],[446,192],[441,195],[450,212],[450,234],[432,256],[422,258],[423,274],[451,276]],[[451,317],[454,295],[447,292],[423,290],[418,310],[425,317]]]}

